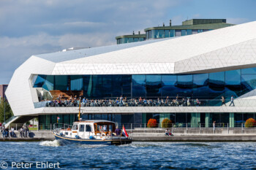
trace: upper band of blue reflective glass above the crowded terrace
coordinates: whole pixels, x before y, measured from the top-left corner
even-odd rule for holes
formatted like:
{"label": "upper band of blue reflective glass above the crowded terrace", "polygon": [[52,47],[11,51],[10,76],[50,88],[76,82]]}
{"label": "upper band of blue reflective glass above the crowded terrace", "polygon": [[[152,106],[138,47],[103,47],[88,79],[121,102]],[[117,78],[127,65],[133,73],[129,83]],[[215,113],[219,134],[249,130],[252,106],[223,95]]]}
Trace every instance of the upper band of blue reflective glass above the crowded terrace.
{"label": "upper band of blue reflective glass above the crowded terrace", "polygon": [[[83,90],[86,98],[219,99],[248,93],[256,88],[255,68],[206,74],[139,75],[38,75],[34,88]],[[214,101],[213,101],[214,102]]]}

